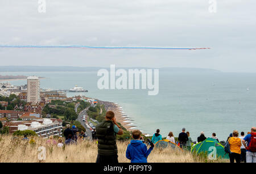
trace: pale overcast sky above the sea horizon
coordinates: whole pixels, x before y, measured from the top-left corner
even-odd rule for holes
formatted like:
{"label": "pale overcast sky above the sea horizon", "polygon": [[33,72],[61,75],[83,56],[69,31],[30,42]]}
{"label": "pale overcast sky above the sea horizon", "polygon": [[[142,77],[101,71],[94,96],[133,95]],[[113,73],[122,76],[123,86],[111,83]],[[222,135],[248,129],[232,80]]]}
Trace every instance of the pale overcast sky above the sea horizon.
{"label": "pale overcast sky above the sea horizon", "polygon": [[[210,3],[209,3],[210,2]],[[256,73],[256,1],[0,0],[0,45],[210,47],[0,48],[0,65],[197,67]]]}

